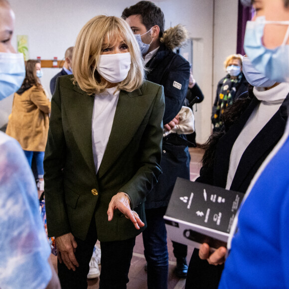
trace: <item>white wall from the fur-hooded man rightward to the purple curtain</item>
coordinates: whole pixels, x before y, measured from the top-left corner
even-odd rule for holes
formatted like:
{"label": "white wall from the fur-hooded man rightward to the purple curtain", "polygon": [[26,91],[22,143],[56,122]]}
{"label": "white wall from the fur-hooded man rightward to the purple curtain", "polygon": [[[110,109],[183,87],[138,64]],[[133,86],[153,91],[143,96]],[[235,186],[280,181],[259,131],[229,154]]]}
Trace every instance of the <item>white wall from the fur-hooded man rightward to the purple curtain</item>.
{"label": "white wall from the fur-hooded man rightward to the purple curtain", "polygon": [[159,3],[166,27],[184,24],[193,39],[193,75],[204,94],[197,105],[197,143],[211,133],[211,111],[223,62],[237,47],[238,0],[164,0]]}

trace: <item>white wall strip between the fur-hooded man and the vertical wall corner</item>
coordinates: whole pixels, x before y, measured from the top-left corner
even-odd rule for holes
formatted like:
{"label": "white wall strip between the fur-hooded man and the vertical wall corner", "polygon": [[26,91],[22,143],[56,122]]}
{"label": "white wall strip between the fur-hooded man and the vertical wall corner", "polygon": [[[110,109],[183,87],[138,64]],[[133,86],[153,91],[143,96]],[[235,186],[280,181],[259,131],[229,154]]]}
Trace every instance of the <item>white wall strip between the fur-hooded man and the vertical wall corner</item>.
{"label": "white wall strip between the fur-hooded man and the vertical wall corner", "polygon": [[210,134],[212,86],[213,0],[166,0],[160,3],[166,27],[184,24],[193,39],[193,75],[204,94],[204,101],[194,112],[197,142]]}

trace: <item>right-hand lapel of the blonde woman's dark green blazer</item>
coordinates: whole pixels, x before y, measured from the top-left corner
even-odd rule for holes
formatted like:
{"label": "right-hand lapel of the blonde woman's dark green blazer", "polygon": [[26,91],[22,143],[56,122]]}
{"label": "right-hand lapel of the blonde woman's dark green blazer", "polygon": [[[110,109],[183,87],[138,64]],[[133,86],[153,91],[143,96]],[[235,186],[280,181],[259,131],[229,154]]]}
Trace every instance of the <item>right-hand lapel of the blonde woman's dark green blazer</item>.
{"label": "right-hand lapel of the blonde woman's dark green blazer", "polygon": [[98,171],[99,177],[105,174],[131,142],[151,102],[152,98],[145,97],[140,89],[131,93],[120,92],[111,134]]}

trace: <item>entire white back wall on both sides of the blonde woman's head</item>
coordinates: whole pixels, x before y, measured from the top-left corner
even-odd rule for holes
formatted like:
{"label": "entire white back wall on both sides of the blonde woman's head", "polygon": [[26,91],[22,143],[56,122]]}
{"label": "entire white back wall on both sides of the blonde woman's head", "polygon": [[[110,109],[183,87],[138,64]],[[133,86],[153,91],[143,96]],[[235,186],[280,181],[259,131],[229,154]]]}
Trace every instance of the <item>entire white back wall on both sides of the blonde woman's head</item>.
{"label": "entire white back wall on both sides of the blonde woman's head", "polygon": [[[74,45],[81,27],[98,14],[120,16],[123,9],[138,0],[9,0],[16,15],[16,35],[28,35],[29,56],[35,59],[62,59],[66,48]],[[165,27],[184,24],[193,39],[193,74],[205,99],[195,113],[197,142],[210,134],[211,108],[216,84],[224,76],[223,62],[236,52],[238,0],[155,0],[164,12]],[[215,8],[214,8],[215,7]],[[58,72],[43,69],[41,80],[49,82]],[[1,102],[0,127],[7,122],[12,97]]]}

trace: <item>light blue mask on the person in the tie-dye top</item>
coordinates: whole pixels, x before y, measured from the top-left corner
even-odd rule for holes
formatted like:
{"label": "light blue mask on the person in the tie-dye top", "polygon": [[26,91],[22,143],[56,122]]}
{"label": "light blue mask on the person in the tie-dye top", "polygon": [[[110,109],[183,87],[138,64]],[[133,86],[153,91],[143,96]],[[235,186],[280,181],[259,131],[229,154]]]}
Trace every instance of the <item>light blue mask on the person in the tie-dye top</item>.
{"label": "light blue mask on the person in the tie-dye top", "polygon": [[0,52],[0,100],[16,92],[25,77],[22,53]]}

